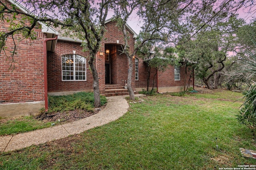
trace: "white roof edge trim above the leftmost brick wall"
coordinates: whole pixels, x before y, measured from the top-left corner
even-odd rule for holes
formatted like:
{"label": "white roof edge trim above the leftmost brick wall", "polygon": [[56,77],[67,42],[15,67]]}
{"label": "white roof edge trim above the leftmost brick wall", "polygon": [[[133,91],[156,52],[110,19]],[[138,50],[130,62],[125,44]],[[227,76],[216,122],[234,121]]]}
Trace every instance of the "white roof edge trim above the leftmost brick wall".
{"label": "white roof edge trim above the leftmost brick wall", "polygon": [[[20,4],[18,1],[16,0],[8,0],[11,4],[16,5],[22,12],[26,13],[26,14],[32,14],[34,15],[30,10],[28,10],[27,8],[25,8],[22,4]],[[42,32],[43,33],[52,33],[55,35],[58,35],[58,31],[56,31],[55,29],[53,29],[52,27],[47,26],[45,23],[38,21],[38,23],[40,25],[42,25]]]}

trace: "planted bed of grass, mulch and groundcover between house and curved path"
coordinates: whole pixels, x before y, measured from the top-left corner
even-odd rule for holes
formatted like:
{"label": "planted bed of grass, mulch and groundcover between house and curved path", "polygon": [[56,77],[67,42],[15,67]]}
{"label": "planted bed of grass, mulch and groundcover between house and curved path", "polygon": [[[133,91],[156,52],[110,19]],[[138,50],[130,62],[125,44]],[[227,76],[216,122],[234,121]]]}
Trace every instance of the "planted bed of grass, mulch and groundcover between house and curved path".
{"label": "planted bed of grass, mulch and groundcover between house and curved path", "polygon": [[[101,104],[106,104],[106,97],[101,96]],[[75,121],[98,113],[94,109],[93,93],[78,92],[66,96],[49,96],[49,110],[44,109],[35,116],[13,119],[0,119],[0,135],[24,133],[36,129]]]}

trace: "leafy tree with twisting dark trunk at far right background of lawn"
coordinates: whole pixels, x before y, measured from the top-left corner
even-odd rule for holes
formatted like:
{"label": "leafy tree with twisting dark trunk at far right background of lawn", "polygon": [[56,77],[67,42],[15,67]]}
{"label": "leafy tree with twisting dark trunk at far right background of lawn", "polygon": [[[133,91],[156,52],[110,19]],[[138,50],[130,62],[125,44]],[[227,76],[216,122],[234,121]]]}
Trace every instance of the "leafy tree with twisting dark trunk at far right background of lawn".
{"label": "leafy tree with twisting dark trunk at far right background of lawn", "polygon": [[228,51],[233,51],[235,47],[234,34],[242,23],[243,20],[236,17],[218,18],[211,25],[205,25],[190,41],[179,46],[179,51],[184,54],[182,57],[195,63],[196,76],[209,89],[218,88]]}

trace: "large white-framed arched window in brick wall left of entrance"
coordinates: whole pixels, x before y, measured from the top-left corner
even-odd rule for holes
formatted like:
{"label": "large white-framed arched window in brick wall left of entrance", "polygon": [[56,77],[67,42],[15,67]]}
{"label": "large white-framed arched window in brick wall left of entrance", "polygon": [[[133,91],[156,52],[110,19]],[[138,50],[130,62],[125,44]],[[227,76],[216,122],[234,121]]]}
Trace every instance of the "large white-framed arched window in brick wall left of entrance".
{"label": "large white-framed arched window in brick wall left of entrance", "polygon": [[76,54],[63,55],[62,81],[86,81],[86,58]]}

